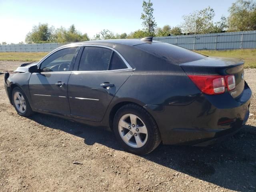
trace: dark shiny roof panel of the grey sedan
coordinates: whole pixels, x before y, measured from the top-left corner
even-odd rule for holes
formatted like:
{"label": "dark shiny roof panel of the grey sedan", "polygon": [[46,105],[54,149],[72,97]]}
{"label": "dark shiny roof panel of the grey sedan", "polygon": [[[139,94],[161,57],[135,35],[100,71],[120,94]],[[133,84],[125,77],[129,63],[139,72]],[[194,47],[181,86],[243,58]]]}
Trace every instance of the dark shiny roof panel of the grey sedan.
{"label": "dark shiny roof panel of the grey sedan", "polygon": [[146,44],[146,43],[154,43],[154,42],[159,42],[159,41],[145,41],[145,40],[140,40],[140,39],[108,39],[108,40],[92,40],[92,41],[84,41],[84,42],[76,42],[76,43],[71,43],[71,44],[66,44],[64,46],[69,46],[69,45],[86,45],[86,44],[93,44],[93,45],[105,45],[105,46],[111,46],[113,44],[123,44],[127,46],[135,46],[139,44]]}

